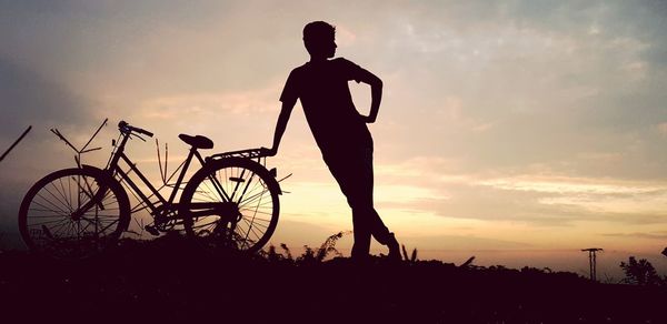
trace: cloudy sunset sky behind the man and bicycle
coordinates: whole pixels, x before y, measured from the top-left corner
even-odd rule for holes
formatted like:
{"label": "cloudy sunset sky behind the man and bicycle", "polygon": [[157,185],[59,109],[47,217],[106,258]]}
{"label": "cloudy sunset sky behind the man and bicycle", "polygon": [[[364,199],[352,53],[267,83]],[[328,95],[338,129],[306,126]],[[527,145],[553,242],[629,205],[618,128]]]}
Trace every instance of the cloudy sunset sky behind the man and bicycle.
{"label": "cloudy sunset sky behind the man and bicycle", "polygon": [[[579,250],[603,247],[610,274],[629,255],[667,269],[667,2],[648,0],[0,0],[0,151],[33,126],[0,162],[0,243],[17,243],[29,186],[73,165],[51,128],[81,145],[109,118],[96,165],[120,120],[169,143],[172,164],[179,133],[210,152],[270,145],[313,20],[385,82],[376,206],[421,259],[586,273]],[[366,113],[370,89],[350,87]],[[129,154],[158,181],[153,142]],[[300,104],[268,163],[293,174],[273,244],[351,230]]]}

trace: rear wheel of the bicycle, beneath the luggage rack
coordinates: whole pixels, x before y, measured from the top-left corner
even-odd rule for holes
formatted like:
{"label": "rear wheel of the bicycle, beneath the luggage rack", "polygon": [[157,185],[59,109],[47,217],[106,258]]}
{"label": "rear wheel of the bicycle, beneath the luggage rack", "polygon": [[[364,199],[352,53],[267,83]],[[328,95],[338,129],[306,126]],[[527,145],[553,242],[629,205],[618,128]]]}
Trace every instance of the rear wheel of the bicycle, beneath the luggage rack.
{"label": "rear wheel of the bicycle, beneath the luggage rack", "polygon": [[207,163],[183,189],[179,215],[186,233],[207,247],[255,253],[273,234],[280,211],[276,179],[247,159]]}

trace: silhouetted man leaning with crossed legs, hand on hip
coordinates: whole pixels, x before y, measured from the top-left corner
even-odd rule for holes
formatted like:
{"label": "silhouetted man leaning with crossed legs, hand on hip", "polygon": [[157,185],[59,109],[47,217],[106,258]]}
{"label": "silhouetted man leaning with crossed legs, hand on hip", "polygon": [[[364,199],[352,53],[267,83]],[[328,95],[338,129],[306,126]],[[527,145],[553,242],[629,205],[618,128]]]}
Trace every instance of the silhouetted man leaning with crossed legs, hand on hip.
{"label": "silhouetted man leaning with crossed legs, hand on hip", "polygon": [[[291,71],[280,95],[282,110],[276,125],[270,155],[278,152],[289,115],[301,100],[308,125],[331,174],[352,209],[354,259],[367,259],[371,235],[389,247],[389,257],[400,260],[398,242],[374,209],[372,139],[366,123],[375,122],[382,97],[382,81],[336,53],[336,28],[323,21],[303,28],[303,44],[310,61]],[[359,114],[348,87],[355,80],[371,87],[368,117]]]}

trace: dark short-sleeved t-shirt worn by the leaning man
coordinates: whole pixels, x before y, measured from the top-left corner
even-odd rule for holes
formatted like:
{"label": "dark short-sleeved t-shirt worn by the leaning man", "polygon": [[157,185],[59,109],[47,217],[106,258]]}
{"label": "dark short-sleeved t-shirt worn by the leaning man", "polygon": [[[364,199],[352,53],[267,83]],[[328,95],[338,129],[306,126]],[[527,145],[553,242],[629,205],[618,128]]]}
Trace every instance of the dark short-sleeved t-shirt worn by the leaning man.
{"label": "dark short-sleeved t-shirt worn by the leaning man", "polygon": [[301,100],[308,125],[325,154],[372,146],[370,132],[355,108],[348,87],[350,80],[359,82],[362,71],[342,58],[307,62],[293,69],[285,83],[280,101]]}

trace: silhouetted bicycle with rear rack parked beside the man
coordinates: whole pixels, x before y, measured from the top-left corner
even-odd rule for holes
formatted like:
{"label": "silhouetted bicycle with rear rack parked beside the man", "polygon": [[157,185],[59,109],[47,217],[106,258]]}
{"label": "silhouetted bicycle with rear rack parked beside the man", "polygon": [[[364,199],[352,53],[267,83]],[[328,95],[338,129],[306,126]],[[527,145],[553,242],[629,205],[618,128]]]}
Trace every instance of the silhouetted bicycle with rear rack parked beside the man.
{"label": "silhouetted bicycle with rear rack parked beside the man", "polygon": [[[50,173],[28,191],[19,210],[19,230],[28,247],[56,257],[91,256],[113,246],[128,230],[131,214],[145,209],[153,219],[145,229],[153,235],[183,231],[206,246],[225,245],[248,253],[268,242],[278,223],[282,191],[276,169],[269,171],[261,164],[262,159],[266,164],[267,149],[202,158],[198,150],[212,149],[213,142],[202,135],[180,134],[190,150],[172,174],[180,169],[167,199],[159,192],[167,183],[156,189],[125,153],[129,139],[146,141],[142,136],[153,134],[125,121],[118,129],[120,135],[112,141],[104,169],[77,160],[77,168]],[[201,168],[185,182],[193,159]],[[135,183],[131,173],[149,193]],[[185,188],[175,202],[181,185]],[[126,188],[140,201],[135,209],[130,209]]]}

